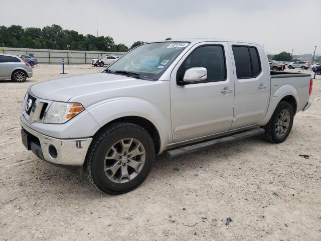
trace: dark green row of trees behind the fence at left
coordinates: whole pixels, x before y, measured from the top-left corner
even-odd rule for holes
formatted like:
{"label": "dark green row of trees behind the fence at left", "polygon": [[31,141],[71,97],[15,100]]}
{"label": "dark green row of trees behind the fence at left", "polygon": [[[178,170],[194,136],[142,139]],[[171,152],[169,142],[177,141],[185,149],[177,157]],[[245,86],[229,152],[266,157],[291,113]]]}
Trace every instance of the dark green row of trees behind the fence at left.
{"label": "dark green row of trees behind the fence at left", "polygon": [[0,47],[127,52],[142,43],[136,41],[128,48],[121,43],[115,44],[110,36],[83,35],[56,24],[42,29],[0,26]]}

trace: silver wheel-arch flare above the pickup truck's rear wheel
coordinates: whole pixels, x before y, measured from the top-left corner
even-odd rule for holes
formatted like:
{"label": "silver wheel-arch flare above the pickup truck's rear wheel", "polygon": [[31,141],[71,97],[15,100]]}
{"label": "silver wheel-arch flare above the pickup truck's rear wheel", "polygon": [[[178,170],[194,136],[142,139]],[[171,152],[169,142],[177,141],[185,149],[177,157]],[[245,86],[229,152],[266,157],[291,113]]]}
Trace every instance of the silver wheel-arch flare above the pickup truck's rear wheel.
{"label": "silver wheel-arch flare above the pickup truck's rear wheel", "polygon": [[297,91],[292,85],[283,85],[281,87],[278,87],[277,85],[272,86],[269,107],[267,109],[265,117],[259,123],[260,126],[264,126],[269,122],[277,104],[281,101],[281,99],[283,99],[287,95],[293,96],[296,103],[299,102],[299,96],[297,94]]}

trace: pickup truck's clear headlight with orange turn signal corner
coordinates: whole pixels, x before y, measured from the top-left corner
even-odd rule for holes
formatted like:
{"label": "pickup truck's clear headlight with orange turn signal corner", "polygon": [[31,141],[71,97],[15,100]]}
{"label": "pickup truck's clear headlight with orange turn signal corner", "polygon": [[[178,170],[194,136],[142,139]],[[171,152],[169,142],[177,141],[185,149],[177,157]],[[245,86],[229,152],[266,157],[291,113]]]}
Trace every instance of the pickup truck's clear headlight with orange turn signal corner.
{"label": "pickup truck's clear headlight with orange turn signal corner", "polygon": [[65,103],[54,101],[47,111],[44,123],[66,123],[84,109],[85,108],[79,103]]}

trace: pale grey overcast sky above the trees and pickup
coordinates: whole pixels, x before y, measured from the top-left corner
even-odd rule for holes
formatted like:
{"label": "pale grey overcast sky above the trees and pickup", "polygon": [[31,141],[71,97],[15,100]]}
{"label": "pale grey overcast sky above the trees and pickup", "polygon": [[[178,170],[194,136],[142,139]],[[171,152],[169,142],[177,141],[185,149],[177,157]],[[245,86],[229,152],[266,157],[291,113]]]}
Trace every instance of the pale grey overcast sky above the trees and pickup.
{"label": "pale grey overcast sky above the trees and pickup", "polygon": [[[12,11],[14,10],[14,12]],[[116,44],[220,38],[264,44],[267,53],[321,54],[321,0],[0,0],[0,25],[58,24]]]}

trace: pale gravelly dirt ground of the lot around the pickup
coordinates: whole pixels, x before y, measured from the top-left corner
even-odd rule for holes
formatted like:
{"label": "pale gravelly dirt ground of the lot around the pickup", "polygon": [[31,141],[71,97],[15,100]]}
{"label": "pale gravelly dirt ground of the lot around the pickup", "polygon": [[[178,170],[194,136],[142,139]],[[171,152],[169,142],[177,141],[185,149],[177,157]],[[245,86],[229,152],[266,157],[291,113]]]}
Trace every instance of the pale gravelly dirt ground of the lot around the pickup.
{"label": "pale gravelly dirt ground of the lot around the pickup", "polygon": [[[96,71],[66,66],[68,76]],[[60,72],[39,65],[25,83],[0,82],[1,240],[321,240],[320,76],[284,143],[255,137],[161,155],[139,188],[111,196],[21,143],[27,88]]]}

